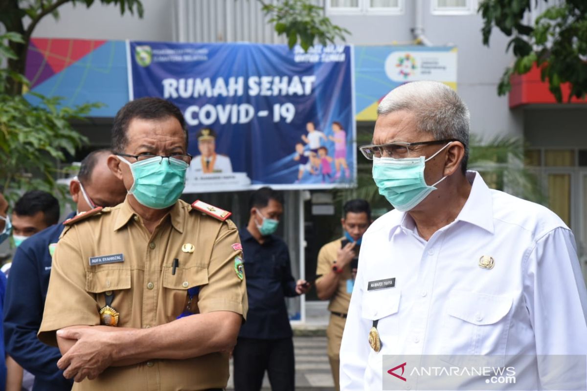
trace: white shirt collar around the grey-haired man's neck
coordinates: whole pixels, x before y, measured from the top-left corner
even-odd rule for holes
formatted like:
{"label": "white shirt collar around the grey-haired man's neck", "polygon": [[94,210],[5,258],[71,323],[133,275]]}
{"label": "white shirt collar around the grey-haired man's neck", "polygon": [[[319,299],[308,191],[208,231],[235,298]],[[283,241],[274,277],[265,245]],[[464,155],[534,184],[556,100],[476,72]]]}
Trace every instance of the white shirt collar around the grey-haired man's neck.
{"label": "white shirt collar around the grey-haired man's neck", "polygon": [[[472,181],[471,192],[455,221],[471,223],[494,233],[491,190],[477,171],[467,171],[467,179],[469,182]],[[404,232],[414,231],[416,224],[407,212],[400,212],[394,224],[390,226],[389,239],[398,227],[401,227]]]}

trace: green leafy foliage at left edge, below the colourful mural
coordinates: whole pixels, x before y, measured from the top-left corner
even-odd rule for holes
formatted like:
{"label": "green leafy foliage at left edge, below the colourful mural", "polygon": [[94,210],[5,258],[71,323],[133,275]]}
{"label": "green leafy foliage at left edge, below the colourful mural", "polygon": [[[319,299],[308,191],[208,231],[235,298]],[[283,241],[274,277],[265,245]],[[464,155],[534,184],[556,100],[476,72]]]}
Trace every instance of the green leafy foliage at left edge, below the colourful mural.
{"label": "green leafy foliage at left edge, below the colourful mural", "polygon": [[[0,35],[0,42],[18,39],[21,37],[14,33]],[[2,53],[6,57],[14,55],[8,46]],[[70,121],[81,120],[101,104],[59,108],[61,98],[29,93],[39,100],[33,105],[25,96],[6,93],[8,82],[15,77],[29,85],[21,74],[0,69],[0,192],[13,202],[20,193],[31,189],[63,198],[64,189],[55,182],[56,174],[63,169],[57,166],[65,161],[66,154],[75,154],[75,149],[86,142]]]}

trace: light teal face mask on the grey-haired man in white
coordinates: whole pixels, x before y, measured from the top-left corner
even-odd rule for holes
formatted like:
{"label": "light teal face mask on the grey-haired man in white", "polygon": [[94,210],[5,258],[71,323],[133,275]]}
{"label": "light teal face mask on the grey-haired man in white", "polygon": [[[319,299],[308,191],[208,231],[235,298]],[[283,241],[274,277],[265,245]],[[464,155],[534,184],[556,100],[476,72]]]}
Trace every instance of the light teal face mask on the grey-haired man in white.
{"label": "light teal face mask on the grey-haired man in white", "polygon": [[373,158],[373,180],[379,188],[379,194],[384,196],[394,208],[400,212],[407,212],[418,205],[431,192],[434,187],[446,176],[429,186],[424,181],[424,168],[426,162],[434,158],[444,148],[438,149],[436,154],[428,159],[423,156],[417,158]]}

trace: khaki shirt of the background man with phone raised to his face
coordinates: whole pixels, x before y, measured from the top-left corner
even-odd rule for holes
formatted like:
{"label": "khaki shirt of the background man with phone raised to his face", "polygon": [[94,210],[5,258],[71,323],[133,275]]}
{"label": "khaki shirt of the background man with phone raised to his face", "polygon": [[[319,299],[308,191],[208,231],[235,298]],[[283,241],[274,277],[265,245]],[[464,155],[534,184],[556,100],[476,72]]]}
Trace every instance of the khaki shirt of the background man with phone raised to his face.
{"label": "khaki shirt of the background man with phone raised to his face", "polygon": [[[334,261],[336,261],[336,253],[340,250],[341,242],[344,238],[336,239],[333,242],[326,243],[320,249],[318,253],[318,266],[316,267],[316,274],[322,274],[325,276],[330,273]],[[322,277],[321,277],[322,278]],[[318,278],[316,281],[320,281]],[[350,263],[345,266],[341,273],[338,288],[335,293],[330,297],[330,304],[328,305],[328,311],[339,312],[340,314],[346,314],[349,310],[350,304],[350,293],[346,289],[347,280],[353,278],[350,270]]]}

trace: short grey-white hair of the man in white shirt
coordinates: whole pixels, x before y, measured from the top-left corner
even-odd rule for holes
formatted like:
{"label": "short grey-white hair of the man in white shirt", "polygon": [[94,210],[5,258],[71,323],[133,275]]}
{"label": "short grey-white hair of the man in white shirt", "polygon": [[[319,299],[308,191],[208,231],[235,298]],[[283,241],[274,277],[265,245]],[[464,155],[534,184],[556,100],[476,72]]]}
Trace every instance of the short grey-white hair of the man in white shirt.
{"label": "short grey-white hair of the man in white shirt", "polygon": [[461,161],[463,172],[469,157],[469,110],[457,93],[439,81],[413,81],[403,84],[387,94],[379,107],[378,115],[406,110],[416,117],[418,130],[433,135],[434,140],[454,138],[465,146]]}

